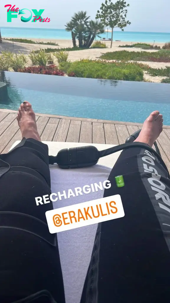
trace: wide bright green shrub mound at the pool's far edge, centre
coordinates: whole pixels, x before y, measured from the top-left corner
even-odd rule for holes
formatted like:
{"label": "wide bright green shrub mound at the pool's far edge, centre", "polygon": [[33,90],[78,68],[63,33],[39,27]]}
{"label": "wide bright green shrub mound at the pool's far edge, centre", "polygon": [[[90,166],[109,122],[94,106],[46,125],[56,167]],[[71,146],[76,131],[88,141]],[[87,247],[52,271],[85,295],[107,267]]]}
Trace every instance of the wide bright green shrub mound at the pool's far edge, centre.
{"label": "wide bright green shrub mound at the pool's far edge, centre", "polygon": [[74,73],[80,78],[97,78],[126,81],[142,81],[143,71],[140,67],[120,63],[106,63],[101,61],[76,61],[71,63],[67,74]]}

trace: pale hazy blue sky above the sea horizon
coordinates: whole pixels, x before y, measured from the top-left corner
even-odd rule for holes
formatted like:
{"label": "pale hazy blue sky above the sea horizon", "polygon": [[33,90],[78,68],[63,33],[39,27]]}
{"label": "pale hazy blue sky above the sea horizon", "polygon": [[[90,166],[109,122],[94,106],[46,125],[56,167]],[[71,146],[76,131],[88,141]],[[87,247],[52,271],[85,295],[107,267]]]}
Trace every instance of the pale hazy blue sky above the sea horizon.
{"label": "pale hazy blue sky above the sea horizon", "polygon": [[[115,2],[115,0],[112,0]],[[91,19],[95,19],[103,0],[0,0],[0,27],[34,27],[34,28],[64,28],[72,15],[80,10],[87,11]],[[126,0],[129,3],[127,19],[131,22],[125,31],[131,32],[170,32],[170,0]],[[50,22],[21,22],[13,18],[7,22],[6,4],[15,4],[15,8],[44,9],[43,18],[50,18]],[[34,15],[33,15],[34,16]],[[28,17],[28,15],[25,15]],[[22,23],[22,25],[21,25]],[[116,29],[119,30],[119,29]]]}

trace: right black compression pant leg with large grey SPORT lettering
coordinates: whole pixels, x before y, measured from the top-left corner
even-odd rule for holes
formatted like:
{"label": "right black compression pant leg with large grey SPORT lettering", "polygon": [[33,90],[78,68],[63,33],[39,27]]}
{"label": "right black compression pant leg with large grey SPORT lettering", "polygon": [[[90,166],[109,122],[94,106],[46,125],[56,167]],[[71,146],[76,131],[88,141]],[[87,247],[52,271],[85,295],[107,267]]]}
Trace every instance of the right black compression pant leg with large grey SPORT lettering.
{"label": "right black compression pant leg with large grey SPORT lettering", "polygon": [[[118,175],[124,187],[116,186]],[[108,180],[104,197],[119,194],[125,216],[98,225],[81,303],[169,303],[168,170],[147,150],[129,148]]]}

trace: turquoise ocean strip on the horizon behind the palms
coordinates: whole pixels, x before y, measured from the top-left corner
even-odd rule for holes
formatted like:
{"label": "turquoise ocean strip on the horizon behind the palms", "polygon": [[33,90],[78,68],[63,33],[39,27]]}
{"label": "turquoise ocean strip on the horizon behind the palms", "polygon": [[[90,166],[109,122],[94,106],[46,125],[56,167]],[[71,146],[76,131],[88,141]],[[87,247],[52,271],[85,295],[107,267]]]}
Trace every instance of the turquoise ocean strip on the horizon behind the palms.
{"label": "turquoise ocean strip on the horizon behind the palms", "polygon": [[[71,39],[71,33],[65,29],[55,28],[20,28],[20,27],[1,27],[1,35],[4,38],[44,38],[44,39]],[[111,38],[111,33],[101,35],[102,38]],[[99,39],[100,38],[96,38]],[[160,42],[170,41],[170,33],[155,32],[113,32],[113,41],[129,42]]]}

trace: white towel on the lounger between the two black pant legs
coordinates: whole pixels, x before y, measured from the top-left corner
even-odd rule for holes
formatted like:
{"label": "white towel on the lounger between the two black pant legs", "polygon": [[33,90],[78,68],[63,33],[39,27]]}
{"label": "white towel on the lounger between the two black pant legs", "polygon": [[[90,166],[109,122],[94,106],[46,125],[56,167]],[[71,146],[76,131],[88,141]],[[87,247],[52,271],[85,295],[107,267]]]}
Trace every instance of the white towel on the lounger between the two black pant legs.
{"label": "white towel on the lounger between the two black pant legs", "polygon": [[[67,171],[67,173],[66,173]],[[95,165],[79,169],[60,169],[57,165],[50,165],[51,190],[58,191],[90,185],[108,179],[111,168]],[[104,190],[90,192],[89,194],[71,196],[69,199],[53,202],[53,208],[60,208],[86,201],[103,198]],[[57,234],[60,262],[64,280],[66,303],[80,303],[83,285],[85,282],[97,224],[62,231]],[[57,287],[57,285],[56,285]]]}

